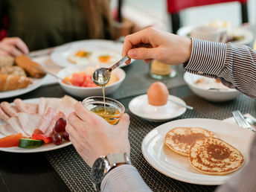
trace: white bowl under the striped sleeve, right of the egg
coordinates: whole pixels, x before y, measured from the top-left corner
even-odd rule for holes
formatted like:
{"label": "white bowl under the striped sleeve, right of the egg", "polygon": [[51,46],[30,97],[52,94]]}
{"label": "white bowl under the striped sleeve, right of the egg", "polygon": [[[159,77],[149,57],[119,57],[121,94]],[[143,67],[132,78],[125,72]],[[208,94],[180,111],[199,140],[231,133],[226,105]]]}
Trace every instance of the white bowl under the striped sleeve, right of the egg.
{"label": "white bowl under the striped sleeve, right of the egg", "polygon": [[196,85],[196,80],[200,78],[208,78],[202,77],[196,74],[191,74],[185,72],[184,80],[188,84],[188,87],[192,90],[192,92],[199,97],[205,98],[206,100],[211,100],[214,102],[231,100],[240,95],[241,93],[236,89],[218,89],[218,90],[208,90],[206,87],[200,87]]}

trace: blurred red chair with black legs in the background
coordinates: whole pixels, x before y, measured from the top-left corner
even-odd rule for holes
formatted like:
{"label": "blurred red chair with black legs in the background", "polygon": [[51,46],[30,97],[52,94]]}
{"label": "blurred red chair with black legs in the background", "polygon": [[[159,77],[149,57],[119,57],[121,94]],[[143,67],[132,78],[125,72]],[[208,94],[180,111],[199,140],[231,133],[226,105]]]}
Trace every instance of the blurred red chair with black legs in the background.
{"label": "blurred red chair with black legs in the background", "polygon": [[176,33],[181,27],[179,13],[182,10],[188,9],[190,7],[199,7],[203,5],[220,4],[232,1],[238,1],[240,3],[242,12],[242,23],[248,22],[248,0],[167,0],[167,11],[170,15],[173,33]]}

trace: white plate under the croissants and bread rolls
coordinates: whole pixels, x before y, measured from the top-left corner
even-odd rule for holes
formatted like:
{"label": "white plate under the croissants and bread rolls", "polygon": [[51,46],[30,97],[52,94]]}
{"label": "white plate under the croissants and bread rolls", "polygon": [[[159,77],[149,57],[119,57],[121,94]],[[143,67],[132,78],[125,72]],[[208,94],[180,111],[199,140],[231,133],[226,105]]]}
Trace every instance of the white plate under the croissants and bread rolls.
{"label": "white plate under the croissants and bread rolls", "polygon": [[[46,77],[46,75],[45,75]],[[42,83],[44,83],[45,77],[42,78],[32,78],[33,83],[29,86],[27,86],[26,88],[23,89],[16,89],[16,90],[12,90],[12,91],[5,91],[5,92],[0,92],[0,99],[3,98],[8,98],[8,97],[15,97],[17,95],[22,95],[25,94],[27,92],[31,92],[33,91],[33,89],[38,88],[39,86],[42,85]]]}

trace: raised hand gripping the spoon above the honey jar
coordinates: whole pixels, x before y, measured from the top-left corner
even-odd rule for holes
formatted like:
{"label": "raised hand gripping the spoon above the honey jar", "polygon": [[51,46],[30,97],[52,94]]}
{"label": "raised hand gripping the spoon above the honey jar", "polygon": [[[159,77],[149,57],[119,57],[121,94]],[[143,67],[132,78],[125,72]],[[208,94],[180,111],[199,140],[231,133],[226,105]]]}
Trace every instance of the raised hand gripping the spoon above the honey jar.
{"label": "raised hand gripping the spoon above the honey jar", "polygon": [[146,63],[156,59],[170,65],[178,65],[189,60],[191,48],[191,39],[150,27],[126,36],[122,55],[128,55],[135,60],[145,60]]}

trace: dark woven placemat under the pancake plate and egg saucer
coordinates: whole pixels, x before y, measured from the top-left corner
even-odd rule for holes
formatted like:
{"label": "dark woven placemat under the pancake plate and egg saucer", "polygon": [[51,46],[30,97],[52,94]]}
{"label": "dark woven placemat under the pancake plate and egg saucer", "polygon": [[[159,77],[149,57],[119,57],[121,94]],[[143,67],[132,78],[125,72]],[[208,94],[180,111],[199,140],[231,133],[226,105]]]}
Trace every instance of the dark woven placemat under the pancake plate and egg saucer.
{"label": "dark woven placemat under the pancake plate and egg saucer", "polygon": [[[231,117],[231,112],[240,109],[242,113],[256,115],[256,101],[245,95],[240,95],[235,100],[225,103],[211,103],[196,95],[183,97],[186,103],[193,105],[193,110],[187,110],[185,114],[176,119],[183,118],[214,118],[223,120]],[[144,121],[141,118],[130,115],[131,124],[129,127],[129,141],[131,144],[132,164],[141,173],[144,181],[153,191],[214,191],[216,186],[193,185],[171,179],[159,173],[144,159],[141,153],[143,138],[154,127],[162,123]],[[90,179],[90,169],[83,159],[69,146],[60,150],[45,153],[48,161],[63,179],[71,191],[93,191]]]}

